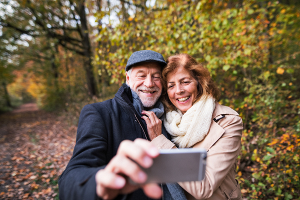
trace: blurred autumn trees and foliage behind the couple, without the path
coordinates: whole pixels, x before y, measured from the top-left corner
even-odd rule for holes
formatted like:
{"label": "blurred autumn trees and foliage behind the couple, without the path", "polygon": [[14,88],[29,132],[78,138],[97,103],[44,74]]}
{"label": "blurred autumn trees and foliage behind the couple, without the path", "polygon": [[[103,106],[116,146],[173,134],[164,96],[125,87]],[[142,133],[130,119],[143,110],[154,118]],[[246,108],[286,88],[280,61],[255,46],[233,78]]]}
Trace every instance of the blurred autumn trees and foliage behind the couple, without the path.
{"label": "blurred autumn trees and foliage behind the couple, without the path", "polygon": [[299,0],[0,0],[0,111],[36,102],[76,125],[143,49],[192,55],[240,113],[244,199],[300,199]]}

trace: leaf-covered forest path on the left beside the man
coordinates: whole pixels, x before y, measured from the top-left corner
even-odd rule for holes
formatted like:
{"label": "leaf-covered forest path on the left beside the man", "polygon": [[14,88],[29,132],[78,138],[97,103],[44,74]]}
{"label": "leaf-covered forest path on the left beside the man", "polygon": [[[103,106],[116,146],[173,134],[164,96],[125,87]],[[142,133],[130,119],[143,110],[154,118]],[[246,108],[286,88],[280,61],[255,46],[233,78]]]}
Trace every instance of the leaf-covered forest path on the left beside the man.
{"label": "leaf-covered forest path on the left beside the man", "polygon": [[26,103],[0,115],[0,199],[58,199],[77,127]]}

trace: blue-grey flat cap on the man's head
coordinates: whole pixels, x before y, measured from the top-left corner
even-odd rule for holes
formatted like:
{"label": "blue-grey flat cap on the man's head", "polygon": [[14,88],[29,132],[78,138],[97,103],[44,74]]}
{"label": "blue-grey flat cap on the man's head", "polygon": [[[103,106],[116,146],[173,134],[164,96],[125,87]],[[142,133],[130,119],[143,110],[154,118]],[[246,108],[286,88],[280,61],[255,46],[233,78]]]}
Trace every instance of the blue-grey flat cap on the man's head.
{"label": "blue-grey flat cap on the man's head", "polygon": [[132,65],[140,62],[158,62],[162,66],[166,65],[163,56],[153,50],[139,50],[133,52],[126,64],[125,71],[128,71]]}

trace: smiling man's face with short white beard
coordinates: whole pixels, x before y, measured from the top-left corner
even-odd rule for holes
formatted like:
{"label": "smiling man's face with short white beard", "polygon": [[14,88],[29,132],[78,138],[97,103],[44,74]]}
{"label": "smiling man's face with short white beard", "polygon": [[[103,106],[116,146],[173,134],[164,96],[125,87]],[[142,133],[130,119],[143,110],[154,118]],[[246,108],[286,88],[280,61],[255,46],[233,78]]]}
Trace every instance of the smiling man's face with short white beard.
{"label": "smiling man's face with short white beard", "polygon": [[130,77],[126,71],[126,82],[137,93],[144,107],[153,107],[161,94],[160,70],[157,62],[144,62],[132,67]]}

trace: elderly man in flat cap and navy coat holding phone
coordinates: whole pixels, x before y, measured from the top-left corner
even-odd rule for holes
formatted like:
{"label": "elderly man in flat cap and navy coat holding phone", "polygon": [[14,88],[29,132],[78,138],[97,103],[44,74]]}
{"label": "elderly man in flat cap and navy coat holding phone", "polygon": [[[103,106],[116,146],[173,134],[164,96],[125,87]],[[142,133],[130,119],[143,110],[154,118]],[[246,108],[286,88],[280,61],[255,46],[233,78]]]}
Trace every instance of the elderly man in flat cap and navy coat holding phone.
{"label": "elderly man in flat cap and navy coat holding phone", "polygon": [[161,120],[149,121],[142,115],[147,110],[147,114],[163,117],[163,105],[158,98],[165,64],[160,53],[132,53],[125,68],[126,84],[114,98],[83,107],[73,155],[59,177],[60,199],[160,198],[157,184],[141,184],[139,188],[129,184],[127,177],[143,183],[146,174],[135,162],[149,167],[158,155],[149,141],[160,132],[169,138],[163,125],[159,130],[150,126],[147,129],[146,122],[161,124]]}

